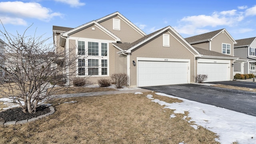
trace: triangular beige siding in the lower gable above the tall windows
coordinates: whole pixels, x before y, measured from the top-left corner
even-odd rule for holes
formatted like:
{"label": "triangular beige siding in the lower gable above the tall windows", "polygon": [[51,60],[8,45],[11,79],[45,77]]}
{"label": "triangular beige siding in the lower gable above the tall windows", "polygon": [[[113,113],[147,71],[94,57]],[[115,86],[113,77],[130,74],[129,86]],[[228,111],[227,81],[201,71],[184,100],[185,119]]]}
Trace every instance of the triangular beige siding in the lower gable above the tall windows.
{"label": "triangular beige siding in the lower gable above the tall windows", "polygon": [[[92,30],[92,28],[95,28],[95,30]],[[85,28],[83,30],[80,30],[74,34],[70,34],[70,36],[78,38],[92,38],[98,40],[114,40],[108,34],[106,34],[94,25],[89,26],[88,28]]]}

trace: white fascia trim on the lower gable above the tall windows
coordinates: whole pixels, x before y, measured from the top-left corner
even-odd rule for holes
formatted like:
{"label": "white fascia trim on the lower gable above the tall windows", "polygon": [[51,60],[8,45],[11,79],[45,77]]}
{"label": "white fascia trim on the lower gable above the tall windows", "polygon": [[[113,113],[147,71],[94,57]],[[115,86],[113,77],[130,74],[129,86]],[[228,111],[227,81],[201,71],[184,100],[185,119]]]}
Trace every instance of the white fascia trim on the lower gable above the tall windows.
{"label": "white fascia trim on the lower gable above the tall windows", "polygon": [[102,25],[98,24],[98,22],[96,22],[95,20],[94,21],[91,21],[91,22],[88,22],[86,24],[83,24],[82,26],[78,26],[72,30],[69,30],[67,32],[64,32],[62,34],[62,36],[64,37],[68,37],[68,35],[70,34],[73,34],[75,32],[77,32],[78,30],[80,30],[81,28],[86,28],[92,24],[95,24],[97,26],[97,28],[99,28],[100,30],[102,30],[103,32],[105,32],[106,34],[108,34],[109,36],[111,36],[113,39],[115,39],[115,41],[121,41],[120,38],[118,38],[116,35],[114,35],[112,32],[110,32],[108,29],[104,28]]}

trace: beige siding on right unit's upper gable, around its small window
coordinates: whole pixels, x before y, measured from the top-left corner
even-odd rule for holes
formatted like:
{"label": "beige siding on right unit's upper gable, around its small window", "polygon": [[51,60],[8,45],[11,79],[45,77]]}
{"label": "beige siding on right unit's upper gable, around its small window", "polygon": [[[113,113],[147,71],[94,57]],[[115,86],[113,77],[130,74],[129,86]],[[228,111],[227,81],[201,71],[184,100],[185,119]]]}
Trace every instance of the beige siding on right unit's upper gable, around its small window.
{"label": "beige siding on right unit's upper gable, around its small window", "polygon": [[222,53],[222,44],[230,44],[230,56],[233,56],[234,44],[225,32],[213,38],[211,50]]}

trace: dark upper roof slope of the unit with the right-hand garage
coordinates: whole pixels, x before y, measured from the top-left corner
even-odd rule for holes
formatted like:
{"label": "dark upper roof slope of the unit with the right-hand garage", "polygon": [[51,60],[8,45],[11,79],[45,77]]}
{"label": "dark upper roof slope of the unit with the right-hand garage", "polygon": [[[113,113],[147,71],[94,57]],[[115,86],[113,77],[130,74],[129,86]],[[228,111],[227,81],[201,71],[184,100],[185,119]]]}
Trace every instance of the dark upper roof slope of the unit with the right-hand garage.
{"label": "dark upper roof slope of the unit with the right-hand garage", "polygon": [[215,30],[213,32],[207,32],[207,33],[204,33],[204,34],[199,34],[199,35],[196,35],[196,36],[191,36],[191,37],[185,38],[185,40],[188,43],[198,42],[198,41],[202,41],[202,40],[210,40],[214,36],[216,36],[219,32],[221,32],[222,30],[224,30],[224,28],[220,29],[220,30]]}

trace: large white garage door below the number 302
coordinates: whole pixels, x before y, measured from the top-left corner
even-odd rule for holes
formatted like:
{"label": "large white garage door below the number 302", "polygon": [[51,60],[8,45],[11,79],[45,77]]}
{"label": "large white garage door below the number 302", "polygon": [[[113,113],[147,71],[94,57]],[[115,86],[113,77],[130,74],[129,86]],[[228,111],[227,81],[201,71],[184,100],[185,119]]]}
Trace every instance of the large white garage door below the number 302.
{"label": "large white garage door below the number 302", "polygon": [[188,62],[138,61],[138,86],[188,83]]}

